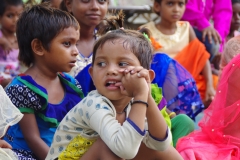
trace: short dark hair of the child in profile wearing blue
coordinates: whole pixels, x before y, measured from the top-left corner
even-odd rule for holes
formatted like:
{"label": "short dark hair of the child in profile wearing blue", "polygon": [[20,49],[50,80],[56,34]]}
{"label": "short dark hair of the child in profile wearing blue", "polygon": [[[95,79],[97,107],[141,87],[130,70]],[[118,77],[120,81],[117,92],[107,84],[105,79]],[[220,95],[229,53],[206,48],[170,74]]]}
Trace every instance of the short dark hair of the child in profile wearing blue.
{"label": "short dark hair of the child in profile wearing blue", "polygon": [[34,62],[31,42],[38,39],[49,50],[51,41],[65,28],[80,29],[77,20],[69,13],[51,8],[48,3],[26,9],[17,22],[19,60],[26,66]]}

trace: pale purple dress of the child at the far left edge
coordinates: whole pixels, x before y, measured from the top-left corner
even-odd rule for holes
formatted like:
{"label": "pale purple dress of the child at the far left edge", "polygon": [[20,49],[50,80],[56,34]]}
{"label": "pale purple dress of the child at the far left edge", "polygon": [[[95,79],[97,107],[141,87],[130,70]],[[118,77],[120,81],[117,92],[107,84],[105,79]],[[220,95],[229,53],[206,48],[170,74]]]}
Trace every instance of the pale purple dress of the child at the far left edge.
{"label": "pale purple dress of the child at the far left edge", "polygon": [[[0,38],[3,37],[2,31],[0,30]],[[8,55],[5,55],[2,47],[0,46],[0,72],[5,72],[8,67],[8,72],[15,76],[19,71],[18,61],[19,49],[12,49]]]}

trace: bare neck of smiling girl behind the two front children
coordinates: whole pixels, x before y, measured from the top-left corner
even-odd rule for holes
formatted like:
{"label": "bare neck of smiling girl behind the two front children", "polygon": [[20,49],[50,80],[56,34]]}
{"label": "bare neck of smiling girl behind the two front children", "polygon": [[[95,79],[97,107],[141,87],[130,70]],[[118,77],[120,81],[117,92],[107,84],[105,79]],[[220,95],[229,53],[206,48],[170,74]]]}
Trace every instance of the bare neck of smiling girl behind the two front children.
{"label": "bare neck of smiling girl behind the two front children", "polygon": [[93,45],[96,41],[94,31],[95,27],[87,28],[87,26],[81,26],[80,40],[77,48],[84,57],[89,57],[92,54]]}

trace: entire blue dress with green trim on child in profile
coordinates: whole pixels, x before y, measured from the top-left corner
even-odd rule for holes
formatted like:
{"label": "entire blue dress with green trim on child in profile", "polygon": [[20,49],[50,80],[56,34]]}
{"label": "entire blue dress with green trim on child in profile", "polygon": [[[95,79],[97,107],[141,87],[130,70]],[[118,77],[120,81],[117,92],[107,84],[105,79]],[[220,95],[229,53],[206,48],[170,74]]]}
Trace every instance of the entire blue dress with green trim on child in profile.
{"label": "entire blue dress with green trim on child in profile", "polygon": [[[40,137],[48,146],[51,145],[58,124],[83,96],[74,78],[63,73],[59,74],[59,78],[65,89],[64,98],[59,104],[48,103],[47,90],[28,75],[17,76],[6,87],[7,95],[21,112],[35,114]],[[30,151],[18,124],[10,127],[4,139],[13,149]]]}

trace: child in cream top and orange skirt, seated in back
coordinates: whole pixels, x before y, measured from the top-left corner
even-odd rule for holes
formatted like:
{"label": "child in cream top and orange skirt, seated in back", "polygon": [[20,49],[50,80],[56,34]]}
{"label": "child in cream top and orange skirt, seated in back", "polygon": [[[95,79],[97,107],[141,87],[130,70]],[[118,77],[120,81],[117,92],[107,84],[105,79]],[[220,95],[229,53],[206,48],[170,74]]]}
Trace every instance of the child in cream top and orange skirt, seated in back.
{"label": "child in cream top and orange skirt, seated in back", "polygon": [[[164,52],[178,61],[195,79],[198,91],[204,103],[211,101],[215,95],[209,53],[196,38],[188,22],[179,21],[184,13],[186,0],[155,0],[154,11],[161,16],[157,24],[149,22],[146,27],[159,44],[155,52]],[[216,82],[215,82],[216,81]],[[215,80],[214,83],[217,83]]]}

